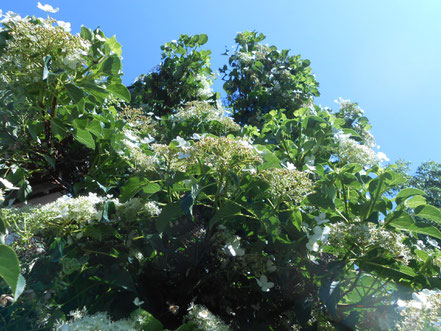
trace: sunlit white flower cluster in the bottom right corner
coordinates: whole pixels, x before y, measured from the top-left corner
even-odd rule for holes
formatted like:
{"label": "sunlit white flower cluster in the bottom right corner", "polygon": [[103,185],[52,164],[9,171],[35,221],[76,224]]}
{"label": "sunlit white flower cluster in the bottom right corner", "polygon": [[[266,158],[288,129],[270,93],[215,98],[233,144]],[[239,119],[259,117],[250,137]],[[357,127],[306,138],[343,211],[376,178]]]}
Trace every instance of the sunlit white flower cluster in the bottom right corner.
{"label": "sunlit white flower cluster in the bottom right corner", "polygon": [[441,292],[424,289],[412,294],[412,300],[398,300],[401,319],[395,330],[439,330],[441,326]]}

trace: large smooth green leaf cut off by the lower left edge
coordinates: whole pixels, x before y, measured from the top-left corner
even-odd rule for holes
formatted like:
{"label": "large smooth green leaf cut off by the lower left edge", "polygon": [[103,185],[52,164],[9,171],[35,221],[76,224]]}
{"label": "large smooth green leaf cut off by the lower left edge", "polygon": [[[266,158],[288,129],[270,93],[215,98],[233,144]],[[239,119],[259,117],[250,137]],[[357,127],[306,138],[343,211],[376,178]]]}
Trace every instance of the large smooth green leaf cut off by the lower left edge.
{"label": "large smooth green leaf cut off by the lower left edge", "polygon": [[6,281],[14,293],[14,299],[23,293],[25,280],[20,275],[20,262],[12,248],[0,245],[0,276]]}

